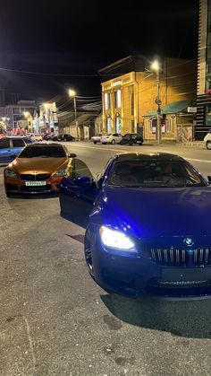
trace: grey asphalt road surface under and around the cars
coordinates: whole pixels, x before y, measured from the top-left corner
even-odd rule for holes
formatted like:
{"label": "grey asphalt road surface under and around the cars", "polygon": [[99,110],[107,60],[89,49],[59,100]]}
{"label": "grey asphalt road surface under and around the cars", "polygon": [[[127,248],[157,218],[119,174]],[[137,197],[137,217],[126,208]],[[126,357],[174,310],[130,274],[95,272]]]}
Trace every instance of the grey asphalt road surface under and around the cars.
{"label": "grey asphalt road surface under and around the cars", "polygon": [[[67,143],[101,171],[118,151],[178,153],[211,175],[211,152],[180,146]],[[60,217],[57,197],[6,198],[0,168],[0,374],[211,374],[211,301],[133,301],[89,277],[84,229]]]}

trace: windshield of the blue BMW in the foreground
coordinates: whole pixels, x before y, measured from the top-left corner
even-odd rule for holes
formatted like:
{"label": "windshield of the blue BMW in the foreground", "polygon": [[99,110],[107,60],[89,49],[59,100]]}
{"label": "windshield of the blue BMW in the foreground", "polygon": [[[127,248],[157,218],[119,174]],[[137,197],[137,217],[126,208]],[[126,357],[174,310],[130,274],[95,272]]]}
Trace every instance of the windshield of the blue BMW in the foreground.
{"label": "windshield of the blue BMW in the foreground", "polygon": [[134,160],[116,162],[108,185],[152,188],[193,187],[206,184],[186,162]]}

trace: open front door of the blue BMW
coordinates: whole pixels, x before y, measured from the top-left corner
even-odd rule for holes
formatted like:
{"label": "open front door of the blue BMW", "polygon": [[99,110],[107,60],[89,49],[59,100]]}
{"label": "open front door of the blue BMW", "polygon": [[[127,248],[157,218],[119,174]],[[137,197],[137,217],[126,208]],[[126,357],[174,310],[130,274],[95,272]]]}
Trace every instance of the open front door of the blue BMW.
{"label": "open front door of the blue BMW", "polygon": [[89,167],[80,159],[73,158],[72,177],[63,178],[60,185],[61,215],[86,228],[96,197],[97,184]]}

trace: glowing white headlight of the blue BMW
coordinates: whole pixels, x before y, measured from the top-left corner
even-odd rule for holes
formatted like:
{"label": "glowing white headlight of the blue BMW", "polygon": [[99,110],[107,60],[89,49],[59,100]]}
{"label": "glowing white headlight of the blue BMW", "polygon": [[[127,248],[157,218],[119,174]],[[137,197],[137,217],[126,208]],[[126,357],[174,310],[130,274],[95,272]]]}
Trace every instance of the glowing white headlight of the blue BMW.
{"label": "glowing white headlight of the blue BMW", "polygon": [[134,250],[135,244],[125,233],[110,227],[101,226],[100,237],[105,247],[114,249]]}

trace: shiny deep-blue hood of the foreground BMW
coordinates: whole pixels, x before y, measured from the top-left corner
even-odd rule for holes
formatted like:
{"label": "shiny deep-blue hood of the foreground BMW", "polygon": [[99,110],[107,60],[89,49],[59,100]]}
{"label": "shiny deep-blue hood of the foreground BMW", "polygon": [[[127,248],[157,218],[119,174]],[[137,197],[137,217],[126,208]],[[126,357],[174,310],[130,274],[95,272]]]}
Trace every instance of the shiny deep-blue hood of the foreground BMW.
{"label": "shiny deep-blue hood of the foreground BMW", "polygon": [[103,223],[139,238],[211,236],[211,188],[105,188]]}

